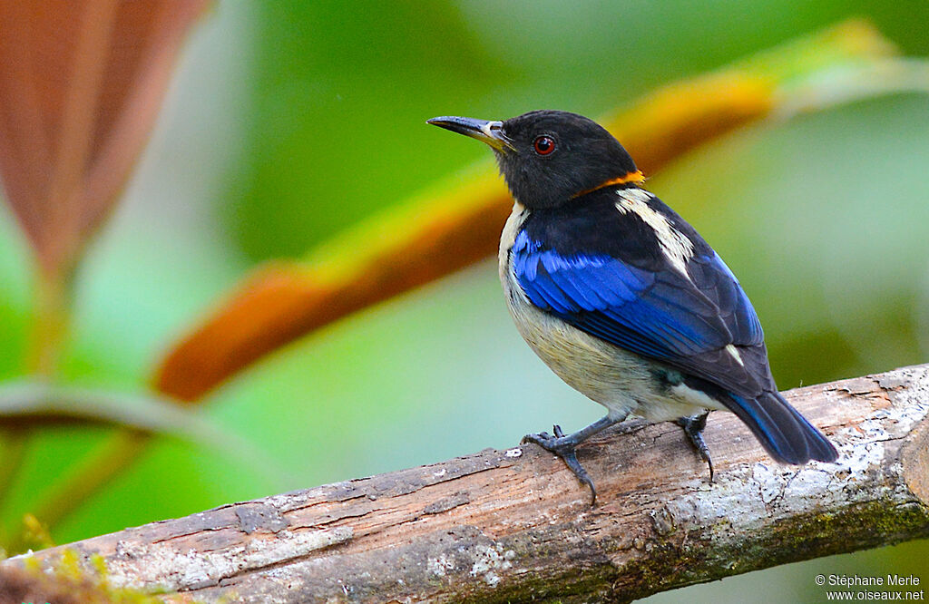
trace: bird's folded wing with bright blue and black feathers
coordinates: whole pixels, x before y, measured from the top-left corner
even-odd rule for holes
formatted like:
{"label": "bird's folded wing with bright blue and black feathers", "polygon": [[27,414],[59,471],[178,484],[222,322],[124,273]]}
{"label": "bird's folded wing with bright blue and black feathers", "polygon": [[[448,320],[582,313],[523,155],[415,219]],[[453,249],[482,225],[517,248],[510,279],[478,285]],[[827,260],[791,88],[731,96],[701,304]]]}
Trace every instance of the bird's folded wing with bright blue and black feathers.
{"label": "bird's folded wing with bright blue and black feathers", "polygon": [[511,254],[532,304],[582,331],[741,396],[776,391],[752,303],[712,250],[688,260],[687,276],[670,263],[652,270],[606,254],[562,255],[525,230]]}

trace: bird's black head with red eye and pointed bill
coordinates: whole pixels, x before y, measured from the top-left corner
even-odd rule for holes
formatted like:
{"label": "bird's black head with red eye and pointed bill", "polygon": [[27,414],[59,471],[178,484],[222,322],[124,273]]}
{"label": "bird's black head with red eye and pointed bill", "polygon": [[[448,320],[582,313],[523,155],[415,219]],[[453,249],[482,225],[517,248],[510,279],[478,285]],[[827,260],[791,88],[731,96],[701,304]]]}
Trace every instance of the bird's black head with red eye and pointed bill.
{"label": "bird's black head with red eye and pointed bill", "polygon": [[533,209],[567,204],[611,182],[642,179],[619,141],[577,113],[529,112],[505,122],[435,117],[428,123],[490,145],[513,197]]}

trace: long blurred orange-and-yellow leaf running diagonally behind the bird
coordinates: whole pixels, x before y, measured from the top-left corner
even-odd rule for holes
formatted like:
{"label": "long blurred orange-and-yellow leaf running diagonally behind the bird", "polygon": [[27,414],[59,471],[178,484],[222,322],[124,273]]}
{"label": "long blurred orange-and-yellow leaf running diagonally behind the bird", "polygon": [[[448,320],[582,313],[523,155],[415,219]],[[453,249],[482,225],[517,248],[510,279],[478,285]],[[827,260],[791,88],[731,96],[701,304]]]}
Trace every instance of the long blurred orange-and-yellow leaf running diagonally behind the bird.
{"label": "long blurred orange-and-yellow leaf running diagonally behind the bird", "polygon": [[[721,70],[677,80],[601,120],[646,174],[765,118],[852,99],[929,92],[929,62],[903,59],[864,20],[846,20]],[[496,256],[512,199],[491,157],[441,178],[317,245],[249,275],[169,348],[153,386],[193,403],[229,376],[359,309]]]}

